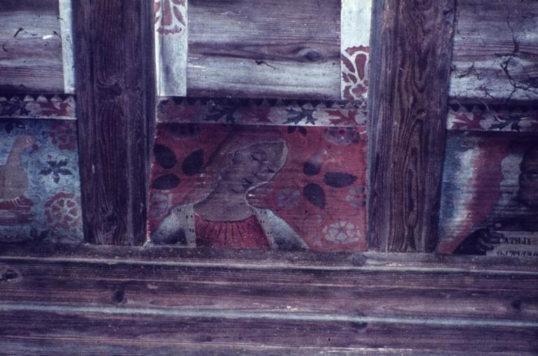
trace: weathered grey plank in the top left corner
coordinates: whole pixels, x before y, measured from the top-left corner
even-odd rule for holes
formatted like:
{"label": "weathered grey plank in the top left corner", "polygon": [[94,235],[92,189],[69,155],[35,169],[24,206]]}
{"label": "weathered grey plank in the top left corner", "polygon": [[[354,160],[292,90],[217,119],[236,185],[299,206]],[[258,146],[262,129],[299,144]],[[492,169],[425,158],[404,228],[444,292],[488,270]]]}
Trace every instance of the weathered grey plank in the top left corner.
{"label": "weathered grey plank in the top left corner", "polygon": [[64,91],[57,0],[5,0],[0,6],[0,90]]}

